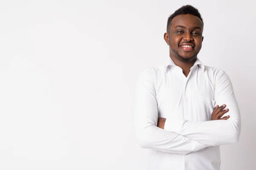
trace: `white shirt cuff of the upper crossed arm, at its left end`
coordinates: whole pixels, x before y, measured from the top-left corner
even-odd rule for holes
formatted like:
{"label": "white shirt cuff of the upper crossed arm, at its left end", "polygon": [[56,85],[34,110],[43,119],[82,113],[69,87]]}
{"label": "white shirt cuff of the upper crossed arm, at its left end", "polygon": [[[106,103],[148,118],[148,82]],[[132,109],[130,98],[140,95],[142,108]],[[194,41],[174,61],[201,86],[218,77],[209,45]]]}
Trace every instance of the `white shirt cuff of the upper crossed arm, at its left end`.
{"label": "white shirt cuff of the upper crossed arm, at its left end", "polygon": [[184,120],[184,119],[169,118],[169,119],[166,119],[166,122],[164,124],[164,129],[167,131],[182,135],[181,130],[182,130],[183,124],[185,122],[186,122],[186,120]]}

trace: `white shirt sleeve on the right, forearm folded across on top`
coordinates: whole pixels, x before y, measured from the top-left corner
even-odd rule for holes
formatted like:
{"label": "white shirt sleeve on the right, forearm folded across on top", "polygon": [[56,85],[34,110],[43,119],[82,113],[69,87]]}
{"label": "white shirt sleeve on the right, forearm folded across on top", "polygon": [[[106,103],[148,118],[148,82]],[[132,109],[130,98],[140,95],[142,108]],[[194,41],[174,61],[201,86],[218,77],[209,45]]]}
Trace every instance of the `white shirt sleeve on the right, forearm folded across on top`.
{"label": "white shirt sleeve on the right, forearm folded across on top", "polygon": [[229,112],[224,116],[230,115],[229,119],[206,122],[166,119],[165,130],[210,146],[237,142],[241,131],[241,116],[232,83],[224,71],[219,71],[216,75],[214,99],[216,105],[227,105]]}

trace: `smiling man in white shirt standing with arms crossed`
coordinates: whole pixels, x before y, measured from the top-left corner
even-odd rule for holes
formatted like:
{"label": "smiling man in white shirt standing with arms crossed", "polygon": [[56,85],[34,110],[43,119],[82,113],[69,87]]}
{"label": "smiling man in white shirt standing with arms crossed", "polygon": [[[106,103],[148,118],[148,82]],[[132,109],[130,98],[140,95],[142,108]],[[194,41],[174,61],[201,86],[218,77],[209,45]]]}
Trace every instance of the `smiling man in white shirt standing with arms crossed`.
{"label": "smiling man in white shirt standing with arms crossed", "polygon": [[164,34],[169,62],[140,74],[134,125],[140,146],[151,149],[148,170],[220,170],[219,146],[239,140],[229,77],[197,58],[203,27],[196,8],[179,8]]}

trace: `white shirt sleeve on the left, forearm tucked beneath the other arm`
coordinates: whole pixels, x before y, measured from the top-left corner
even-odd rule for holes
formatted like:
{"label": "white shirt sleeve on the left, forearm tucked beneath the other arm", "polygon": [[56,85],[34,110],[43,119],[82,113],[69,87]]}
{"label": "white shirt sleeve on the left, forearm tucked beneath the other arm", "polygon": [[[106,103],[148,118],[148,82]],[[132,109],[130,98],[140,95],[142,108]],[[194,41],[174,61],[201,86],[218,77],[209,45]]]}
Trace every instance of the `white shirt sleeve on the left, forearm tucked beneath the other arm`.
{"label": "white shirt sleeve on the left, forearm tucked beneath the other arm", "polygon": [[158,111],[154,84],[153,69],[140,74],[134,101],[134,130],[140,147],[184,155],[208,147],[186,136],[157,127]]}

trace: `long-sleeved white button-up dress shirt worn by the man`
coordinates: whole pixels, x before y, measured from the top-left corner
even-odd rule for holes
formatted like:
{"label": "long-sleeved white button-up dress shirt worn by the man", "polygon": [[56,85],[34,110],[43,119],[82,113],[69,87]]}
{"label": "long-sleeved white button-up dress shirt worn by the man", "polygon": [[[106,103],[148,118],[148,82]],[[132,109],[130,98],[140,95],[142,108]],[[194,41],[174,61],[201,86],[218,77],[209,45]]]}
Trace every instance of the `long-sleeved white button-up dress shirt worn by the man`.
{"label": "long-sleeved white button-up dress shirt worn by the man", "polygon": [[[226,104],[227,120],[211,121]],[[157,118],[166,118],[164,130]],[[148,170],[220,170],[220,145],[239,140],[241,119],[227,74],[199,59],[186,77],[170,58],[140,74],[134,103],[138,143],[150,149]]]}

